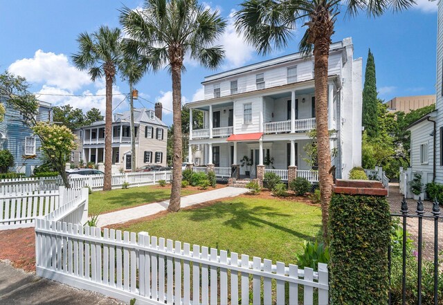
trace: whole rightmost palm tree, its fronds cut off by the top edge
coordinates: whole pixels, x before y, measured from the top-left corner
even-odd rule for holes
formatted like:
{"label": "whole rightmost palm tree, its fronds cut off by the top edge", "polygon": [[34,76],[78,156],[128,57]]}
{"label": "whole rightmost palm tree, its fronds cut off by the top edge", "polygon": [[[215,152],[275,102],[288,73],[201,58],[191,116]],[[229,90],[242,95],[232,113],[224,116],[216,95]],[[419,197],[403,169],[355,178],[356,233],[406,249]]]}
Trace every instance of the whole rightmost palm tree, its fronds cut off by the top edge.
{"label": "whole rightmost palm tree, its fronds cut off by the top edge", "polygon": [[343,8],[348,15],[365,11],[369,17],[386,10],[399,12],[415,0],[246,0],[236,13],[235,26],[246,40],[262,54],[273,46],[284,48],[293,35],[296,23],[305,22],[307,30],[300,41],[306,55],[314,52],[314,80],[318,142],[318,176],[320,180],[323,238],[327,241],[329,200],[332,196],[331,151],[327,129],[327,73],[329,46],[334,34],[336,16]]}

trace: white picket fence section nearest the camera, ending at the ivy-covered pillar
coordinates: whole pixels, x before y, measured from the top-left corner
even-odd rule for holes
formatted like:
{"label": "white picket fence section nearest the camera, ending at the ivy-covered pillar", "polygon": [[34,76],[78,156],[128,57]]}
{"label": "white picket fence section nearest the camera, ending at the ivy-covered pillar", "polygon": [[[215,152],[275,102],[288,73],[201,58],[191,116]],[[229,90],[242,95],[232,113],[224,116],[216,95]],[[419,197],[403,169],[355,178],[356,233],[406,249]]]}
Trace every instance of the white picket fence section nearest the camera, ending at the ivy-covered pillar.
{"label": "white picket fence section nearest the camera, ending at the ivy-covered pillar", "polygon": [[[318,272],[139,232],[37,219],[37,275],[141,304],[328,304]],[[123,239],[122,239],[123,236]],[[275,290],[273,290],[275,289]],[[299,296],[302,289],[303,296]]]}

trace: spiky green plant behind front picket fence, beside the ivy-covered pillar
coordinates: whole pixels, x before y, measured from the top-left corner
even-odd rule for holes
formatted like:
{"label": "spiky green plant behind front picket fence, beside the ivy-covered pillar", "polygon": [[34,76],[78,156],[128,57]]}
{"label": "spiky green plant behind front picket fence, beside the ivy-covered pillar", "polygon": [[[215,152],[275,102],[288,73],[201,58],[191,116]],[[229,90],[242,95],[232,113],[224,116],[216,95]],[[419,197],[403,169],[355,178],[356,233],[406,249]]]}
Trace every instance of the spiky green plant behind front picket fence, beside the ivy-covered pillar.
{"label": "spiky green plant behind front picket fence, beside the ivy-covered pillar", "polygon": [[303,241],[303,252],[296,255],[298,268],[312,268],[317,271],[318,263],[329,262],[329,248],[323,242]]}

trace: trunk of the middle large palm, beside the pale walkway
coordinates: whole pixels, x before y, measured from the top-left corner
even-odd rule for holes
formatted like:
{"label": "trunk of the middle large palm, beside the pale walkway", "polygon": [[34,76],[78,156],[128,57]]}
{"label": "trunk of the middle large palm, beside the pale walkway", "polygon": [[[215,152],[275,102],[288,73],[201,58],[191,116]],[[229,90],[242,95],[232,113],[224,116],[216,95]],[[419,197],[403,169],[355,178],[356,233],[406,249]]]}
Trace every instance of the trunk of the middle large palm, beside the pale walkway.
{"label": "trunk of the middle large palm, beside the pale walkway", "polygon": [[174,149],[172,154],[172,190],[168,211],[180,210],[181,191],[181,163],[182,139],[181,139],[181,66],[172,64],[172,111],[174,123]]}

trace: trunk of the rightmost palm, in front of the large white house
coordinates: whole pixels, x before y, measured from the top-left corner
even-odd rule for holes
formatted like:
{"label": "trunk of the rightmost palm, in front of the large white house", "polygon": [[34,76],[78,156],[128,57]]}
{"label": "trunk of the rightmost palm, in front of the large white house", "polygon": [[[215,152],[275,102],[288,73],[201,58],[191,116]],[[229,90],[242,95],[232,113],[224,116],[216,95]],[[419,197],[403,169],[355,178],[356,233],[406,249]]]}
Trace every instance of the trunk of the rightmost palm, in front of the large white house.
{"label": "trunk of the rightmost palm, in front of the large white house", "polygon": [[329,218],[329,201],[332,196],[333,183],[332,174],[329,173],[329,169],[331,168],[331,150],[329,147],[329,129],[327,117],[327,73],[330,41],[330,36],[318,35],[314,44],[318,178],[320,180],[319,184],[324,241],[328,240],[327,221]]}

